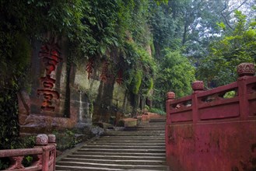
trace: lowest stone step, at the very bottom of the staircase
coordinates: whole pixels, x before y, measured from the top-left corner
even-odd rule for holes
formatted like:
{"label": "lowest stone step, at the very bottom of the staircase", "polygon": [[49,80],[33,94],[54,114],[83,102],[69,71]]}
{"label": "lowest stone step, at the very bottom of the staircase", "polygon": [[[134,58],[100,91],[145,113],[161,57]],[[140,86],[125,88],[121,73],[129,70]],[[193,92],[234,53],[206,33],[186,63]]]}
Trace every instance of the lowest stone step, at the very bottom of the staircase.
{"label": "lowest stone step, at the very bottom of the staircase", "polygon": [[[61,168],[59,166],[62,166]],[[96,167],[103,167],[103,168],[108,168],[108,169],[158,169],[158,170],[167,170],[167,166],[161,166],[161,165],[143,165],[143,163],[141,163],[141,165],[124,165],[124,164],[102,164],[102,163],[96,163],[96,162],[58,162],[56,164],[56,168],[60,168],[60,169],[65,169],[65,167],[68,168],[69,166],[80,166],[83,167],[82,169],[86,170],[86,167],[92,167],[92,166],[96,166]]]}

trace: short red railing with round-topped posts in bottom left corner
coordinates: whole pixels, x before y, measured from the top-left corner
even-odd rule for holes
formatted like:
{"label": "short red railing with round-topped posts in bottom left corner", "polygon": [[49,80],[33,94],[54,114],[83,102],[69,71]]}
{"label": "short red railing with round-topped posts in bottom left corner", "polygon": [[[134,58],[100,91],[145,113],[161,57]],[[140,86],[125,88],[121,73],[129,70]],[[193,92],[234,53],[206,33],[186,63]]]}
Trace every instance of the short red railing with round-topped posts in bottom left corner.
{"label": "short red railing with round-topped posts in bottom left corner", "polygon": [[[26,155],[33,156],[30,166],[23,166],[23,159]],[[0,158],[8,157],[11,161],[6,170],[55,170],[56,162],[56,144],[55,135],[38,134],[36,146],[34,148],[6,149],[0,150]]]}

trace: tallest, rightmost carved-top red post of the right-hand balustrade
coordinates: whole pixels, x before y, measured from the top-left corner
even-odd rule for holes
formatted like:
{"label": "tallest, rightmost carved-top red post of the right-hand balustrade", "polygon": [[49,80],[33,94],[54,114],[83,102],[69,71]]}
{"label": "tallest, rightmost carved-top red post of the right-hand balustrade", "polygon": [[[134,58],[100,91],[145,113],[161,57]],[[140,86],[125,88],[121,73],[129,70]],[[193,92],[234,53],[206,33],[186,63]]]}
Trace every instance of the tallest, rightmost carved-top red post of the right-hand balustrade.
{"label": "tallest, rightmost carved-top red post of the right-hand balustrade", "polygon": [[247,120],[249,114],[249,102],[247,93],[247,79],[254,76],[255,67],[251,63],[241,63],[237,66],[237,79],[239,106],[240,106],[240,119]]}

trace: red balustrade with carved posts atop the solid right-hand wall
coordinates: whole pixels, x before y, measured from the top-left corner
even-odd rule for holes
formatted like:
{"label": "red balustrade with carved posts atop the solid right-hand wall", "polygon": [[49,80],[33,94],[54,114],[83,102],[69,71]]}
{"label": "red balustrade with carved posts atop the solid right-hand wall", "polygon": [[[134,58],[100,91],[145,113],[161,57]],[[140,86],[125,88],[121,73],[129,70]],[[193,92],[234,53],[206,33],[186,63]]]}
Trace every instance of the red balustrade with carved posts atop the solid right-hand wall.
{"label": "red balustrade with carved posts atop the solid right-hand wall", "polygon": [[[254,71],[254,65],[247,65],[247,70]],[[252,70],[253,69],[253,70]],[[175,99],[174,92],[167,93],[167,124],[203,120],[239,118],[247,120],[256,115],[256,77],[244,75],[226,86],[203,91],[201,81],[192,84],[191,96]],[[235,96],[225,98],[226,92],[233,91]]]}

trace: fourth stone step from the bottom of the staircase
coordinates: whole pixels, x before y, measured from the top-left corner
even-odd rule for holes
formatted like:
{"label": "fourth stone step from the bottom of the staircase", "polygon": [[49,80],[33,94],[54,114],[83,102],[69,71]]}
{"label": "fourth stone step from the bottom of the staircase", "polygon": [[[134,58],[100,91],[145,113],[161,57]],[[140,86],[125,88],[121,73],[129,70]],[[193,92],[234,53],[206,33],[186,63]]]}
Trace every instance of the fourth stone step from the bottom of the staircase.
{"label": "fourth stone step from the bottom of the staircase", "polygon": [[81,149],[100,148],[100,149],[165,149],[165,145],[84,145]]}

